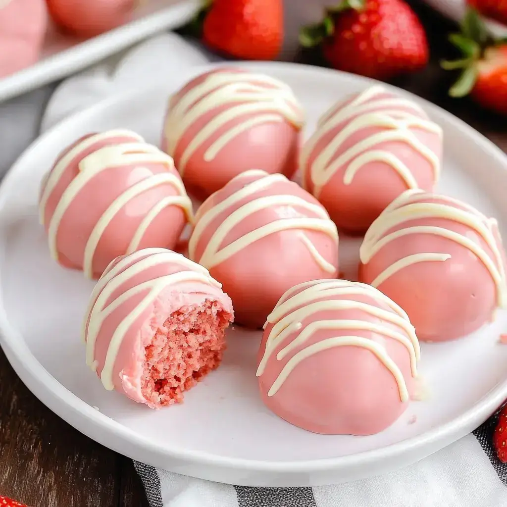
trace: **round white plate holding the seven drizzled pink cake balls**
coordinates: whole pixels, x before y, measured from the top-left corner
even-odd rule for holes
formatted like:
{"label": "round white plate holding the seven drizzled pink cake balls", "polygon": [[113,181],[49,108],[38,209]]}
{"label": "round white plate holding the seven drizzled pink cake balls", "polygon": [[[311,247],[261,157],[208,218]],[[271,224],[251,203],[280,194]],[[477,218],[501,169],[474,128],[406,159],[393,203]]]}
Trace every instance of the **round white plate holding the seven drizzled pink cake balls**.
{"label": "round white plate holding the seven drizzled pink cake balls", "polygon": [[[307,134],[325,107],[371,84],[317,67],[242,66],[293,86],[308,111]],[[198,71],[202,68],[193,74]],[[188,77],[181,77],[182,84]],[[259,332],[233,329],[223,365],[189,391],[183,405],[151,411],[102,388],[85,366],[80,339],[93,283],[50,259],[37,218],[39,183],[57,153],[90,131],[126,127],[157,143],[170,91],[117,97],[69,118],[36,141],[2,184],[1,343],[28,388],[83,433],[127,456],[180,474],[248,486],[321,485],[386,473],[482,423],[507,396],[507,346],[498,343],[507,317],[501,312],[473,336],[423,344],[427,400],[413,403],[394,425],[371,437],[313,434],[271,414],[257,393]],[[440,190],[496,216],[507,237],[507,157],[472,128],[422,102],[445,132]],[[341,238],[342,269],[349,276],[354,276],[357,247],[357,239]]]}

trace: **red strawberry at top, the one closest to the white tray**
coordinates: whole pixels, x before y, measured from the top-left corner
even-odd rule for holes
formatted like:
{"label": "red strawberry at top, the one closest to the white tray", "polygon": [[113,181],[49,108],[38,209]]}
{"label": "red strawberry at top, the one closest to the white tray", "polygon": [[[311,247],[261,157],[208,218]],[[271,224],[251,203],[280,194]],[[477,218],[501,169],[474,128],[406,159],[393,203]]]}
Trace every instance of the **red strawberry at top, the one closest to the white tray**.
{"label": "red strawberry at top, the one closest to the white tray", "polygon": [[245,60],[272,60],[283,40],[282,0],[207,0],[197,23],[212,49]]}

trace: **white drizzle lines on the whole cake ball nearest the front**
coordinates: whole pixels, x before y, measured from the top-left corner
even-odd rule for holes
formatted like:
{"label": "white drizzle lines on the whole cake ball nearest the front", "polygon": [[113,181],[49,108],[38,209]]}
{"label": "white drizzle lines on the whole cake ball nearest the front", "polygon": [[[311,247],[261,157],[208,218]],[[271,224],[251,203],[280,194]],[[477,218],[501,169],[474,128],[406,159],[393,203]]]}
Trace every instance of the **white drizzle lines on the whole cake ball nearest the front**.
{"label": "white drizzle lines on the whole cake ball nearest the front", "polygon": [[[302,290],[293,295],[298,289]],[[356,301],[354,296],[366,296],[374,303]],[[330,297],[332,299],[329,299]],[[383,305],[388,309],[383,308]],[[374,319],[369,321],[340,318],[343,310],[364,311]],[[323,311],[337,312],[337,316],[327,320],[313,320],[303,327],[305,319]],[[263,375],[268,361],[281,344],[285,343],[285,346],[276,354],[277,361],[305,345],[314,333],[321,330],[350,330],[351,332],[347,336],[325,338],[301,348],[283,366],[268,390],[268,396],[276,394],[294,368],[304,359],[331,347],[352,346],[370,350],[394,377],[399,388],[400,400],[408,401],[409,392],[403,373],[389,356],[386,348],[371,339],[353,335],[354,331],[370,331],[400,342],[406,347],[410,356],[412,376],[417,376],[417,361],[421,351],[415,330],[405,311],[374,287],[346,280],[314,280],[296,285],[280,298],[273,312],[268,315],[265,328],[268,324],[274,325],[266,340],[264,355],[257,370],[258,377]],[[400,328],[400,331],[389,324],[394,324]],[[294,337],[287,343],[291,335]]]}

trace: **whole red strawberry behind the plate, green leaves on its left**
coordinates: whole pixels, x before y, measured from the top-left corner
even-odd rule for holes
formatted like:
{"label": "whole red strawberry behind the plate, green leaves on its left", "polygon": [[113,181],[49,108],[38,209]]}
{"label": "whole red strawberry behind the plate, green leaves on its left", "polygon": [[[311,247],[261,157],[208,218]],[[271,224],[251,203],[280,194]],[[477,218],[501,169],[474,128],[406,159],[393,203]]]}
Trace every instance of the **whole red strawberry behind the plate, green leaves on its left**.
{"label": "whole red strawberry behind the plate, green leaves on its left", "polygon": [[343,0],[322,23],[304,28],[300,42],[321,43],[333,67],[370,78],[389,79],[428,61],[424,28],[403,0]]}

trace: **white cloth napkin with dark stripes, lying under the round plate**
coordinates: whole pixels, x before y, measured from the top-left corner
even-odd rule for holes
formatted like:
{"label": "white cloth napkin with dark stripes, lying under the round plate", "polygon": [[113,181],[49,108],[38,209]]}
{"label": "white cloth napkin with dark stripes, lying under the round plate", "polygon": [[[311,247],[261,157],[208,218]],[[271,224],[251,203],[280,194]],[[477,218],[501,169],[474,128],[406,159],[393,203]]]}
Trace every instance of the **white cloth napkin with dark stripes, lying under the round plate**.
{"label": "white cloth napkin with dark stripes, lying under the round plate", "polygon": [[[156,73],[171,87],[178,74],[214,58],[165,33],[63,82],[42,130],[113,93],[146,85]],[[507,467],[491,447],[494,418],[473,434],[388,476],[314,488],[247,488],[180,476],[135,462],[151,507],[502,507]]]}

